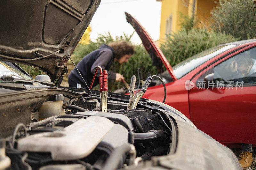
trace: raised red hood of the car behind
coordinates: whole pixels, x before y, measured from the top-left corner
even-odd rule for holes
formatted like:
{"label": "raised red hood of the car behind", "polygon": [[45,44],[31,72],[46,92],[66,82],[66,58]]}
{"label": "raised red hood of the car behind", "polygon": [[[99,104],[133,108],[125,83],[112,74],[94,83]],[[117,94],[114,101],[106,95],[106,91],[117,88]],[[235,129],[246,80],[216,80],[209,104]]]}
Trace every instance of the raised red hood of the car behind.
{"label": "raised red hood of the car behind", "polygon": [[127,12],[124,12],[126,16],[126,20],[128,23],[132,25],[136,33],[140,36],[143,46],[148,51],[149,56],[153,60],[153,65],[157,67],[159,72],[162,71],[163,64],[165,68],[169,71],[170,75],[172,76],[173,80],[177,80],[176,76],[173,73],[171,64],[167,61],[162,51],[156,45],[155,41],[152,40],[148,32],[140,25],[140,23],[132,17]]}

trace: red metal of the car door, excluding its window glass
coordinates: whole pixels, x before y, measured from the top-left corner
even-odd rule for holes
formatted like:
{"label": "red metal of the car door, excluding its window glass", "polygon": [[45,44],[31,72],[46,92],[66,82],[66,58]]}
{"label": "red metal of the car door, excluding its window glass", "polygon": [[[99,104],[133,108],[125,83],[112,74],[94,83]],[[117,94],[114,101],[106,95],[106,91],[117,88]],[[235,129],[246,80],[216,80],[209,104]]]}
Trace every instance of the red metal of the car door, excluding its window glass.
{"label": "red metal of the car door, excluding its window glass", "polygon": [[[242,48],[210,65],[193,82],[207,74],[215,65],[233,57],[256,44]],[[221,143],[239,142],[256,144],[255,122],[256,83],[234,89],[191,89],[189,90],[189,111],[191,120],[204,132]],[[239,128],[240,127],[240,128]],[[218,133],[216,133],[218,132]]]}

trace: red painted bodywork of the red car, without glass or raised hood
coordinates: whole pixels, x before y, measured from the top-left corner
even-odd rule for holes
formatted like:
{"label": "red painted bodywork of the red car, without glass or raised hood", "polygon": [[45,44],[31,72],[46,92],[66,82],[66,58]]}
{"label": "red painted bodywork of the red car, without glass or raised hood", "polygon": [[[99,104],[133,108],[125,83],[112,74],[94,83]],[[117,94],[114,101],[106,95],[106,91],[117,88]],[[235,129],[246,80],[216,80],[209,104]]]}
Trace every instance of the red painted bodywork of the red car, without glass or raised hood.
{"label": "red painted bodywork of the red car, without glass or raised hood", "polygon": [[[185,82],[190,80],[196,84],[197,78],[213,65],[256,45],[255,40],[244,42],[244,44],[235,42],[236,47],[216,55],[180,79],[165,84],[166,104],[180,110],[195,123],[198,129],[228,146],[241,142],[256,144],[256,134],[250,130],[255,122],[252,108],[256,107],[256,86],[244,86],[241,92],[239,90],[220,92],[217,89],[198,90],[196,88],[188,91],[185,88]],[[143,97],[163,101],[163,86],[148,87]],[[248,114],[244,115],[243,112]],[[244,127],[246,132],[241,127]]]}

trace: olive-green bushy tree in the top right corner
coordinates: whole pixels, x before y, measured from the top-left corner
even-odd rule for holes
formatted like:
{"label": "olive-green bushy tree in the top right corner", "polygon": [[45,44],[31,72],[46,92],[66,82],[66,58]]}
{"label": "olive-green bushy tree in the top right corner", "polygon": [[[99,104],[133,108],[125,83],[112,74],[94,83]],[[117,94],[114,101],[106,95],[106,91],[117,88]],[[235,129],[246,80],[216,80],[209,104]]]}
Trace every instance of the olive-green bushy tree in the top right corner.
{"label": "olive-green bushy tree in the top right corner", "polygon": [[212,28],[235,38],[256,37],[256,2],[254,0],[220,0],[212,10]]}

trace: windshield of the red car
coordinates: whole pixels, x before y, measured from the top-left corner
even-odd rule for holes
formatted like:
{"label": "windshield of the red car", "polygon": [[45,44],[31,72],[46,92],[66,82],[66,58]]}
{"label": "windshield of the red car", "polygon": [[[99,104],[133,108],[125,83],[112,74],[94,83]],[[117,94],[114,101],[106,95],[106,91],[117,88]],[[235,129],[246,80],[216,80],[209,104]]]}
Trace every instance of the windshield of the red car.
{"label": "windshield of the red car", "polygon": [[[174,75],[179,79],[186,74],[188,74],[190,71],[194,70],[199,65],[205,63],[206,61],[210,60],[216,55],[219,55],[220,53],[235,47],[236,45],[230,44],[230,45],[221,45],[216,46],[210,49],[207,49],[201,53],[198,53],[192,57],[189,57],[188,59],[176,64],[174,67],[172,67]],[[164,71],[162,73],[162,77],[167,76],[170,77],[169,72],[165,73]],[[166,77],[167,79],[167,77]]]}

